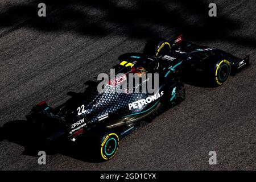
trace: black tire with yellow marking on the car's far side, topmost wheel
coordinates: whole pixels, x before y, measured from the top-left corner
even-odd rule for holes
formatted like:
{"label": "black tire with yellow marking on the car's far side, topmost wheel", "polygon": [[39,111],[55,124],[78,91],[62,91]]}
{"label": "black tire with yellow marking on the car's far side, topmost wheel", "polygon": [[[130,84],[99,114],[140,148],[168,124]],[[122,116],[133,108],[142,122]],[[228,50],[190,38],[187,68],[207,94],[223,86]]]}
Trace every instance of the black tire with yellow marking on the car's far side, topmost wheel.
{"label": "black tire with yellow marking on the car's far side, topmost wheel", "polygon": [[171,51],[170,43],[163,38],[152,38],[148,40],[143,53],[147,56],[163,56]]}

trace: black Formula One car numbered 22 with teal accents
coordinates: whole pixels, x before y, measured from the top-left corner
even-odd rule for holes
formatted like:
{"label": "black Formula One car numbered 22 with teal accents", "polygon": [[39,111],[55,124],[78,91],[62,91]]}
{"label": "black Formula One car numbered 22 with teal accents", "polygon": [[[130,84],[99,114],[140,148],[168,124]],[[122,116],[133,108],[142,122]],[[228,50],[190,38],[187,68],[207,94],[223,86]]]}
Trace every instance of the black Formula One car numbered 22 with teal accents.
{"label": "black Formula One car numbered 22 with teal accents", "polygon": [[[121,93],[98,92],[99,82],[88,82],[84,93],[69,92],[72,97],[63,105],[52,108],[43,101],[34,106],[26,115],[32,131],[50,142],[76,142],[81,136],[88,137],[93,141],[89,147],[94,154],[109,160],[116,154],[119,140],[142,121],[150,122],[184,100],[185,88],[180,77],[199,73],[210,85],[219,86],[229,75],[236,75],[250,65],[249,56],[240,59],[214,47],[187,42],[181,35],[171,40],[150,39],[143,53],[126,53],[119,56],[119,61],[113,68],[121,76],[109,80],[103,88],[115,88],[129,80],[129,73],[158,73],[156,91],[133,93],[129,88]],[[133,89],[142,84],[133,85]]]}

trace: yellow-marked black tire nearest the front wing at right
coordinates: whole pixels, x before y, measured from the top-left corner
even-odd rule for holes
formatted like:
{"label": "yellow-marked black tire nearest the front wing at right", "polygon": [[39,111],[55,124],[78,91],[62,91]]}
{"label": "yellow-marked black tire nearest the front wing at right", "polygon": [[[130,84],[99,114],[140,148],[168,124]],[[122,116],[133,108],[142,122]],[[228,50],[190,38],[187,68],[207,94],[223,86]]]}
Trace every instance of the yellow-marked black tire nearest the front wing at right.
{"label": "yellow-marked black tire nearest the front wing at right", "polygon": [[231,66],[228,60],[222,59],[210,65],[207,69],[209,81],[212,86],[221,86],[230,75]]}

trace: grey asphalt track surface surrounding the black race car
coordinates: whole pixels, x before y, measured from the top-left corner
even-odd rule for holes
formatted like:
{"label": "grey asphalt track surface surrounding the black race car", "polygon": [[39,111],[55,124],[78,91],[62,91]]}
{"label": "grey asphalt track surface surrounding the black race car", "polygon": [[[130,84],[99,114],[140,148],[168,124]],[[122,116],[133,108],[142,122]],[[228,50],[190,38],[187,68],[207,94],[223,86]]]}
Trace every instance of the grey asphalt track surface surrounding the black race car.
{"label": "grey asphalt track surface surrounding the black race car", "polygon": [[[256,169],[254,0],[215,0],[214,18],[212,1],[44,2],[46,18],[37,16],[39,1],[0,2],[0,126],[24,120],[39,101],[62,104],[68,91],[82,92],[85,81],[108,73],[121,53],[141,52],[151,36],[183,32],[192,42],[249,54],[252,65],[219,88],[185,85],[186,100],[122,140],[108,162],[60,152],[40,166],[1,128],[0,169]],[[217,165],[208,164],[209,151]]]}

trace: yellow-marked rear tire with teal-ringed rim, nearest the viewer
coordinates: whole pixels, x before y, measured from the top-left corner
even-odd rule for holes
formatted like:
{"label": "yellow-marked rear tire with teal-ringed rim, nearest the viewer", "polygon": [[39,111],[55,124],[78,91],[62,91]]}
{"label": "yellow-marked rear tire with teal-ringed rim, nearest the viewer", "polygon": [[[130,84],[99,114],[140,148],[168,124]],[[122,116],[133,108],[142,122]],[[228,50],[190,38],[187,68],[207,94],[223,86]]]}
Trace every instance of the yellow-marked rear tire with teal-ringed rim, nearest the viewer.
{"label": "yellow-marked rear tire with teal-ringed rim, nearest the viewer", "polygon": [[93,151],[96,159],[100,161],[110,160],[118,151],[119,137],[110,129],[95,127],[90,131],[93,142]]}

